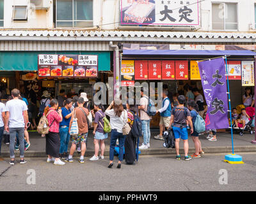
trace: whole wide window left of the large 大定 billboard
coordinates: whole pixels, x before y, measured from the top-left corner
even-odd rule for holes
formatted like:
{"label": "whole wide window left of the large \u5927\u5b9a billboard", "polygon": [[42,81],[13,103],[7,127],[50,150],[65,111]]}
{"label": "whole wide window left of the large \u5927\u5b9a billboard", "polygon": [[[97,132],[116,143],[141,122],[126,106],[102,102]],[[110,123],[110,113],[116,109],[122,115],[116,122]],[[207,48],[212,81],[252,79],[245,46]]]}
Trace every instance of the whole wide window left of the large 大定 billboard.
{"label": "whole wide window left of the large \u5927\u5b9a billboard", "polygon": [[56,27],[92,27],[93,0],[56,0]]}

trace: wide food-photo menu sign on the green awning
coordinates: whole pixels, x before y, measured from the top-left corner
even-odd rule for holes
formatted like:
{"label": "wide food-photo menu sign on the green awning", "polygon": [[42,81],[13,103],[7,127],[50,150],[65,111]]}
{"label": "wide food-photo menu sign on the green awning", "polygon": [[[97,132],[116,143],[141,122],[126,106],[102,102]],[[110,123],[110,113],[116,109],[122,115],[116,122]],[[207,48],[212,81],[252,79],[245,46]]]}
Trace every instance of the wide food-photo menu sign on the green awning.
{"label": "wide food-photo menu sign on the green awning", "polygon": [[98,77],[98,55],[38,55],[38,77]]}

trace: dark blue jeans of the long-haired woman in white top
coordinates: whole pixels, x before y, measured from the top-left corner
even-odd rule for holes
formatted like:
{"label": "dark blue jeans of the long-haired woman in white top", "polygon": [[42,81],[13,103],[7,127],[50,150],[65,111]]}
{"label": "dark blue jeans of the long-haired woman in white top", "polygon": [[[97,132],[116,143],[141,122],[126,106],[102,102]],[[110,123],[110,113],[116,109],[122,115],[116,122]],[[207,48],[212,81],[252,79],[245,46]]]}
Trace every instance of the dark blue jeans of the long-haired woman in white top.
{"label": "dark blue jeans of the long-haired woman in white top", "polygon": [[110,147],[109,147],[109,160],[113,161],[114,159],[114,150],[116,145],[116,140],[118,138],[119,142],[119,161],[123,161],[124,157],[124,142],[125,142],[125,135],[123,133],[118,133],[116,129],[111,130],[111,139],[110,139]]}

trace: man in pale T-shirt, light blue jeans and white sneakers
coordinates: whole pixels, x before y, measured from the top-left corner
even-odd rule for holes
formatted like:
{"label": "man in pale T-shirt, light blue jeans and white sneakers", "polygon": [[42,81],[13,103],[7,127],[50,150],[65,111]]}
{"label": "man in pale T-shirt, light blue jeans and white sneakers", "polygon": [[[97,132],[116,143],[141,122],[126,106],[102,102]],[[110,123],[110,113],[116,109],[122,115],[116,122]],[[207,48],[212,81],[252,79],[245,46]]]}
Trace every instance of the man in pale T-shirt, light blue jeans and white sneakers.
{"label": "man in pale T-shirt, light blue jeans and white sneakers", "polygon": [[140,119],[142,124],[142,133],[143,133],[143,144],[139,147],[139,149],[148,149],[150,147],[150,119],[151,117],[147,114],[147,106],[148,106],[148,96],[144,94],[144,90],[141,89],[141,99],[140,106],[138,109],[140,110]]}

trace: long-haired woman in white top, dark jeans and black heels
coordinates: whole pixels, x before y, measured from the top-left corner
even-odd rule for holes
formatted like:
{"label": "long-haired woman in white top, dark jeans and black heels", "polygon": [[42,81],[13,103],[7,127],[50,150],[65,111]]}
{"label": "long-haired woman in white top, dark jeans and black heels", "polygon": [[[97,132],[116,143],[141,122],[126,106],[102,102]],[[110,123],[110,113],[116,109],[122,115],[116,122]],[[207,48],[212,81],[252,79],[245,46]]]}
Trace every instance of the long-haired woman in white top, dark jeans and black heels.
{"label": "long-haired woman in white top, dark jeans and black heels", "polygon": [[118,155],[118,165],[117,168],[121,168],[121,163],[124,157],[124,142],[125,135],[123,135],[122,128],[127,121],[127,112],[124,110],[124,106],[122,105],[122,101],[120,99],[115,99],[108,106],[106,110],[106,115],[110,117],[110,125],[111,125],[111,140],[109,147],[109,165],[108,168],[113,167],[113,159],[114,159],[114,150],[116,145],[116,140],[119,142],[119,155]]}

